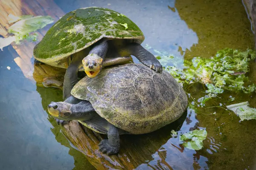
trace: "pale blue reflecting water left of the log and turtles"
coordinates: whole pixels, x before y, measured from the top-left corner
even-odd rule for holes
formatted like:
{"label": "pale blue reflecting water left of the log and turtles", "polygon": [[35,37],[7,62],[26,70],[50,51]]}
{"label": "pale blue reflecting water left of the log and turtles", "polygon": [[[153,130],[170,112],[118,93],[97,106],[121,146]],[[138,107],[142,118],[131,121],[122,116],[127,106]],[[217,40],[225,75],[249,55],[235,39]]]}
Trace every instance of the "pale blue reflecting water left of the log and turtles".
{"label": "pale blue reflecting water left of the log and turtles", "polygon": [[17,56],[11,45],[0,51],[0,169],[70,170],[74,167],[73,155],[79,160],[75,162],[78,168],[91,167],[81,153],[56,142],[57,139],[69,146],[59,133],[60,127],[48,118],[44,104],[52,99],[60,100],[62,92],[41,88],[47,96],[41,101],[36,91],[39,87],[25,79],[13,61]]}

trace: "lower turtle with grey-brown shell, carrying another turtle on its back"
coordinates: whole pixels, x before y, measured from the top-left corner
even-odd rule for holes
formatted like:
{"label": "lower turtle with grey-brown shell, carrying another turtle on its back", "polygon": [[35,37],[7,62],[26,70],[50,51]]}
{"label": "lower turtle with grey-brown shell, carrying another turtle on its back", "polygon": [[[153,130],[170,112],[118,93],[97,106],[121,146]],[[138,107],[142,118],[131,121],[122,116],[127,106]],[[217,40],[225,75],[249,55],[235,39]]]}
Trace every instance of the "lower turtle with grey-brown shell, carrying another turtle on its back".
{"label": "lower turtle with grey-brown shell, carrying another turtle on its back", "polygon": [[82,125],[108,139],[99,150],[119,152],[119,134],[150,133],[177,120],[188,101],[182,86],[169,74],[143,64],[128,63],[102,70],[99,76],[82,78],[73,87],[69,102],[51,102],[48,112],[64,121]]}

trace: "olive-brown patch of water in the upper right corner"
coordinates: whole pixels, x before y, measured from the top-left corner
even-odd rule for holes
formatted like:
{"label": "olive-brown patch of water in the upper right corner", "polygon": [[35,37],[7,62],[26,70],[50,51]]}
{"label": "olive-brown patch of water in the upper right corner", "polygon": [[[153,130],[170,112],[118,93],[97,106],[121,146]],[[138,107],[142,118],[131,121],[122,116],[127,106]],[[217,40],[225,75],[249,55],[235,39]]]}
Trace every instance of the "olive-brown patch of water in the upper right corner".
{"label": "olive-brown patch of water in the upper right corner", "polygon": [[253,32],[241,1],[233,0],[176,0],[180,18],[196,32],[198,43],[185,58],[210,57],[217,50],[253,48]]}

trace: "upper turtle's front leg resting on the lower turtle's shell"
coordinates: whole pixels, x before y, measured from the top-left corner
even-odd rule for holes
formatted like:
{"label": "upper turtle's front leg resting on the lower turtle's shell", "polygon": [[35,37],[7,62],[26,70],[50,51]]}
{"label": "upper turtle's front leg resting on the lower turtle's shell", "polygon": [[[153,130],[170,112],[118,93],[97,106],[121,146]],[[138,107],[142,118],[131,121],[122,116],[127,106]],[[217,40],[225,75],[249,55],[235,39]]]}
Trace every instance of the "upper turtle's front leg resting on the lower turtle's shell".
{"label": "upper turtle's front leg resting on the lower turtle's shell", "polygon": [[138,43],[133,42],[128,44],[125,48],[120,49],[120,53],[122,56],[135,56],[141,63],[157,72],[161,73],[163,71],[163,67],[156,57]]}

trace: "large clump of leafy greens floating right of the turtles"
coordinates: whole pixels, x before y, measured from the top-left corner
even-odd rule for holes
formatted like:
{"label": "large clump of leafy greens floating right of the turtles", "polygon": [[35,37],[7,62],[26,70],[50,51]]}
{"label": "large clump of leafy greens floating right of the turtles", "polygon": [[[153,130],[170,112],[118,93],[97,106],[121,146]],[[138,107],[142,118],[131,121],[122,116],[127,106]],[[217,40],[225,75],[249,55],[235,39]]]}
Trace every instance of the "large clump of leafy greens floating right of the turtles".
{"label": "large clump of leafy greens floating right of the turtles", "polygon": [[[250,93],[255,91],[256,85],[250,83],[245,74],[255,57],[256,52],[250,49],[239,51],[225,48],[219,50],[215,57],[184,60],[184,69],[167,66],[165,70],[181,84],[201,82],[207,86],[207,93],[220,94],[224,90]],[[250,85],[245,86],[247,83]]]}

